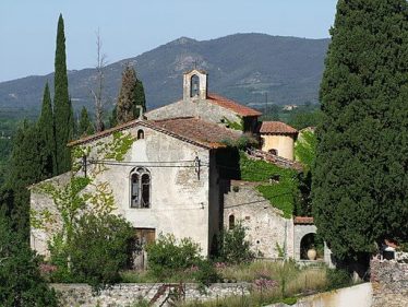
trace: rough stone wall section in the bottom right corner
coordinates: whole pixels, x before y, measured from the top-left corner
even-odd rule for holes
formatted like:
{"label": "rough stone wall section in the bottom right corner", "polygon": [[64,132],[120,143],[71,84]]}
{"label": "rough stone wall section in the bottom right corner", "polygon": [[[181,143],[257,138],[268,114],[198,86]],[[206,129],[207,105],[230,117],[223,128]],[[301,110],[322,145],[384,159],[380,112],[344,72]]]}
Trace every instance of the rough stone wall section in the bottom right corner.
{"label": "rough stone wall section in the bottom right corner", "polygon": [[408,306],[408,263],[371,261],[373,307]]}

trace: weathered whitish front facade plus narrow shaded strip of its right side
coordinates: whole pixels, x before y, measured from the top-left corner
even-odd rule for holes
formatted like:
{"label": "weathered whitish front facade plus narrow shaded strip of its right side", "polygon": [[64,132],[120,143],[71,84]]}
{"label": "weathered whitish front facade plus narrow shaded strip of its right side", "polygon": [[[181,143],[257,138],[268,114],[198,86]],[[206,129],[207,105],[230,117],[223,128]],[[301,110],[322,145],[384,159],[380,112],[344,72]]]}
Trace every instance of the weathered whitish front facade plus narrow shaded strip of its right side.
{"label": "weathered whitish front facade plus narrow shaded strip of its right side", "polygon": [[[112,133],[77,145],[87,152],[86,172],[93,179],[87,192],[106,185],[115,199],[113,213],[124,216],[136,229],[151,229],[155,237],[160,233],[173,234],[176,238],[191,237],[206,256],[220,224],[219,198],[214,197],[218,196],[215,150],[149,128],[144,121],[135,122],[123,133],[136,139],[141,130],[143,138],[135,140],[119,162],[107,160],[101,150],[113,143]],[[131,205],[131,176],[140,167],[151,178],[148,208]],[[56,177],[47,182],[58,180]],[[55,212],[56,205],[49,196],[34,189],[31,208],[36,212],[44,209]],[[58,214],[52,217],[58,222]],[[48,226],[32,228],[32,247],[41,255],[47,255],[47,241],[53,235]]]}

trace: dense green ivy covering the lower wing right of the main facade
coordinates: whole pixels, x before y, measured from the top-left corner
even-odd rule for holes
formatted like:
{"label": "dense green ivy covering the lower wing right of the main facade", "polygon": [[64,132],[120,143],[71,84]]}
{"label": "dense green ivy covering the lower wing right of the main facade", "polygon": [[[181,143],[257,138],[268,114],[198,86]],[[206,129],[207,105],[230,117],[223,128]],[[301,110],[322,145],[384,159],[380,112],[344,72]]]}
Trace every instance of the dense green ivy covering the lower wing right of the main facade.
{"label": "dense green ivy covering the lower wing right of the main facade", "polygon": [[[256,189],[271,204],[284,212],[289,219],[292,215],[295,199],[298,197],[298,173],[293,169],[280,168],[265,161],[256,161],[247,157],[240,152],[240,169],[242,180],[267,182]],[[269,184],[271,177],[277,176],[278,182]]]}

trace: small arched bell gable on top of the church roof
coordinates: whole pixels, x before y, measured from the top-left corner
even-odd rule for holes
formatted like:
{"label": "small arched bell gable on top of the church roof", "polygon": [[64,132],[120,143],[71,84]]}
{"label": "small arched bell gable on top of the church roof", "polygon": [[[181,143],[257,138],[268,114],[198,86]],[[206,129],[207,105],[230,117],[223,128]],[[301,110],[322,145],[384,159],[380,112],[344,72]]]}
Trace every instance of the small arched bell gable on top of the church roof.
{"label": "small arched bell gable on top of the church roof", "polygon": [[207,72],[193,69],[183,74],[183,101],[207,98]]}

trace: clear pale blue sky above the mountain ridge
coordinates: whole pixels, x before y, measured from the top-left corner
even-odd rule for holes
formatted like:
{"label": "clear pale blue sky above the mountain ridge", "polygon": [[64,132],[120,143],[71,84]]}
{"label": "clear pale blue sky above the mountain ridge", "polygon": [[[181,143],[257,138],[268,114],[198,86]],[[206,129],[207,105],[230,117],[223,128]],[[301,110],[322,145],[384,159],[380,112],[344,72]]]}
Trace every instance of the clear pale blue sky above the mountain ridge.
{"label": "clear pale blue sky above the mountain ridge", "polygon": [[236,33],[326,38],[337,0],[0,0],[0,82],[53,71],[62,13],[70,70],[108,63],[187,36]]}

